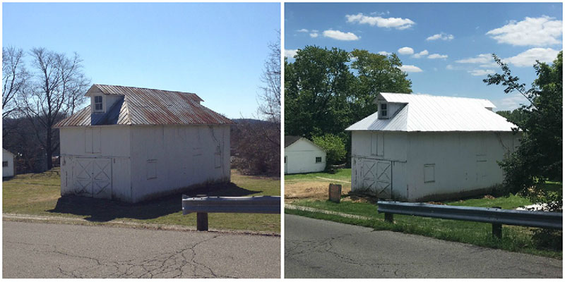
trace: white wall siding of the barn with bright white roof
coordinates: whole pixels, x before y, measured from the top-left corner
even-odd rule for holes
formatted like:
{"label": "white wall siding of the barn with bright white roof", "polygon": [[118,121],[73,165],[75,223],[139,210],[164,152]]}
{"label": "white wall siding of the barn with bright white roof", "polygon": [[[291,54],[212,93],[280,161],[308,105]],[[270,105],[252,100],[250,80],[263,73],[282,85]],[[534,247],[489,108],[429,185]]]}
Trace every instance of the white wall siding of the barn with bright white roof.
{"label": "white wall siding of the barn with bright white roof", "polygon": [[[371,154],[375,133],[383,135],[382,156]],[[485,192],[502,182],[503,171],[496,161],[513,151],[518,139],[511,132],[352,131],[352,190],[367,191],[364,161],[385,160],[392,163],[395,200],[441,200]]]}

